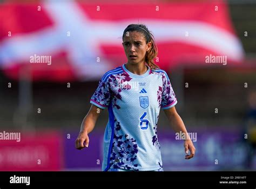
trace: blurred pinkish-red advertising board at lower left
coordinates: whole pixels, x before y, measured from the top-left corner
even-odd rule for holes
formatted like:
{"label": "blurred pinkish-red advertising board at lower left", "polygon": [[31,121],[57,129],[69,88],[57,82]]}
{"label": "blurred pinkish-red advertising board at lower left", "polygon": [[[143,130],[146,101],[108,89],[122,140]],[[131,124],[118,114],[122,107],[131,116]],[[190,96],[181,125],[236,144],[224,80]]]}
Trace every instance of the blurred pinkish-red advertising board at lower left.
{"label": "blurred pinkish-red advertising board at lower left", "polygon": [[0,131],[0,171],[62,170],[62,137],[58,132]]}

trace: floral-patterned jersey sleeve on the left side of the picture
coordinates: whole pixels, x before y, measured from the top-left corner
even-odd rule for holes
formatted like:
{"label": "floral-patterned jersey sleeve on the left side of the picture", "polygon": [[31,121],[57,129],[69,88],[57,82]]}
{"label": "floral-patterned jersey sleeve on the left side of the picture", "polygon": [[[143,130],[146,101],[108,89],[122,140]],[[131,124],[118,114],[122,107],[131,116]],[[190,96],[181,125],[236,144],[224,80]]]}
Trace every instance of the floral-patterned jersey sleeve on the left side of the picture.
{"label": "floral-patterned jersey sleeve on the left side of the picture", "polygon": [[110,104],[110,85],[107,80],[100,79],[99,85],[93,93],[90,103],[100,109],[105,109]]}

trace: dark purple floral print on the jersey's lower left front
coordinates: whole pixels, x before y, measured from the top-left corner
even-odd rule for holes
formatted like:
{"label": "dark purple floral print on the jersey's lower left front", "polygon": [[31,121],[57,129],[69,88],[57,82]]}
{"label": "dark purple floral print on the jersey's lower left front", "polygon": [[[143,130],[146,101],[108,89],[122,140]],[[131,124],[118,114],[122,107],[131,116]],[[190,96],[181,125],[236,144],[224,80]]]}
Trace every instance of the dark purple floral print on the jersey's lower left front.
{"label": "dark purple floral print on the jersey's lower left front", "polygon": [[114,119],[115,129],[110,156],[110,168],[124,168],[126,170],[138,171],[137,159],[138,144],[137,141],[129,137],[129,134],[121,132],[121,125]]}

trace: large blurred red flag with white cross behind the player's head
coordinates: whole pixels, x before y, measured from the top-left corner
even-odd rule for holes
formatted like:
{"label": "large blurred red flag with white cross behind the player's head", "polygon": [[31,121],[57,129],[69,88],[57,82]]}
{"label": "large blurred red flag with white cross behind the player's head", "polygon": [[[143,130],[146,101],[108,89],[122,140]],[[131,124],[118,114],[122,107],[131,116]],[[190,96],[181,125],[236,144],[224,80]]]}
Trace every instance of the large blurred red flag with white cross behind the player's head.
{"label": "large blurred red flag with white cross behind the player's head", "polygon": [[[3,3],[0,19],[0,68],[12,79],[26,68],[34,81],[96,80],[126,62],[122,34],[131,23],[153,32],[156,63],[166,71],[180,64],[206,65],[208,55],[227,56],[227,66],[244,59],[224,2]],[[41,56],[50,57],[51,64],[40,62]],[[31,57],[39,61],[31,63]]]}

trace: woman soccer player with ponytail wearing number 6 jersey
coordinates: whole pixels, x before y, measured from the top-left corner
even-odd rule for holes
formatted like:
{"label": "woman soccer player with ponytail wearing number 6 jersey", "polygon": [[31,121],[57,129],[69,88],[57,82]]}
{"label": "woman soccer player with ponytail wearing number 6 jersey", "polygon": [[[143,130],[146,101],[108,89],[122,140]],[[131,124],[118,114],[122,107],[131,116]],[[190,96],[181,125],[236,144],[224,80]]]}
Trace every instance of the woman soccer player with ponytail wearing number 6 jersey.
{"label": "woman soccer player with ponytail wearing number 6 jersey", "polygon": [[103,171],[163,171],[157,122],[164,110],[174,131],[187,135],[185,159],[196,151],[186,127],[175,109],[177,104],[170,79],[153,59],[157,46],[143,24],[130,24],[123,33],[127,63],[110,70],[100,79],[78,137],[76,148],[89,145],[88,134],[99,113],[107,107],[109,122],[104,134]]}

